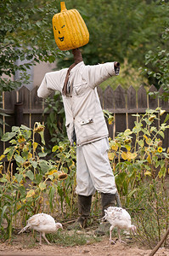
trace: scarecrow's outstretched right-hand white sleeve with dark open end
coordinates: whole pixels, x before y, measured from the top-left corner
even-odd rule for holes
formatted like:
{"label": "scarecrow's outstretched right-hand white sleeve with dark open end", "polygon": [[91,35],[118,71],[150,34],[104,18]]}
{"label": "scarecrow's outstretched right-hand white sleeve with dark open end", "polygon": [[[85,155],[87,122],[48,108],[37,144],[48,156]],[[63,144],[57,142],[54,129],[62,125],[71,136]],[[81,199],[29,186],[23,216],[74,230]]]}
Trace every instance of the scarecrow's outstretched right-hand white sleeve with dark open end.
{"label": "scarecrow's outstretched right-hand white sleeve with dark open end", "polygon": [[87,84],[93,89],[106,79],[118,74],[119,72],[115,72],[114,62],[85,66],[82,70],[82,78],[85,79]]}

